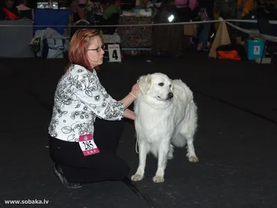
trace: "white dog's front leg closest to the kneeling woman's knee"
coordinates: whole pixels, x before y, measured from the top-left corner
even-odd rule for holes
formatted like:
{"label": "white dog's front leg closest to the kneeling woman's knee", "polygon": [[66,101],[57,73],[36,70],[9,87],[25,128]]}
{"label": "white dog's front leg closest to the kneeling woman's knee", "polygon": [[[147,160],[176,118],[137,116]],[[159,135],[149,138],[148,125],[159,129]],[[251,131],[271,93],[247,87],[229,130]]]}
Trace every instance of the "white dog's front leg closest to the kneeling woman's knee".
{"label": "white dog's front leg closest to the kneeling woman's knee", "polygon": [[136,173],[132,175],[131,177],[132,181],[139,181],[143,179],[148,151],[149,151],[148,144],[141,142],[139,144],[139,167],[136,170]]}

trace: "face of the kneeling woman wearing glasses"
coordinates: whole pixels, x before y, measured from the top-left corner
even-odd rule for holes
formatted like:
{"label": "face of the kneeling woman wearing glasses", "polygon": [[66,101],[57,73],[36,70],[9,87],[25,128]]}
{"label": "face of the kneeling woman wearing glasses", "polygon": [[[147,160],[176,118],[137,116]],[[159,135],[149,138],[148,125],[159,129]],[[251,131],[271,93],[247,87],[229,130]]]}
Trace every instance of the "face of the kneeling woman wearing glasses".
{"label": "face of the kneeling woman wearing glasses", "polygon": [[105,51],[102,48],[103,44],[99,36],[94,37],[87,49],[87,58],[92,68],[97,67],[103,63],[103,56]]}

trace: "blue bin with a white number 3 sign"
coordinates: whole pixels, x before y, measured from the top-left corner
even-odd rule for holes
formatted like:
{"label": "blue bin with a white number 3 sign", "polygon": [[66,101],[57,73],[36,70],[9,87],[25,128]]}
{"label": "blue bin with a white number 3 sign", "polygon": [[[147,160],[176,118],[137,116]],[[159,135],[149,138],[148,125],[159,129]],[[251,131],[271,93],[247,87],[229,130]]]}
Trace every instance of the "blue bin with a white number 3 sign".
{"label": "blue bin with a white number 3 sign", "polygon": [[[264,42],[261,40],[247,40],[247,58],[253,60],[262,58],[262,50],[264,49]],[[265,57],[265,54],[264,54]]]}

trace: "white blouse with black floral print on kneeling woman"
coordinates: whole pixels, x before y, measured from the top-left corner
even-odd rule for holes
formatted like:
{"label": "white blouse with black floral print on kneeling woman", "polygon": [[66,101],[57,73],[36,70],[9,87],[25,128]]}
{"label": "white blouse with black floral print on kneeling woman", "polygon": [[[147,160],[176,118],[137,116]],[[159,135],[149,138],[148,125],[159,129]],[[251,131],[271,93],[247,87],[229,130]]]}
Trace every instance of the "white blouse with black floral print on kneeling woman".
{"label": "white blouse with black floral print on kneeling woman", "polygon": [[72,64],[57,84],[48,133],[64,141],[79,141],[80,135],[93,135],[96,117],[120,120],[123,112],[122,101],[107,94],[94,69]]}

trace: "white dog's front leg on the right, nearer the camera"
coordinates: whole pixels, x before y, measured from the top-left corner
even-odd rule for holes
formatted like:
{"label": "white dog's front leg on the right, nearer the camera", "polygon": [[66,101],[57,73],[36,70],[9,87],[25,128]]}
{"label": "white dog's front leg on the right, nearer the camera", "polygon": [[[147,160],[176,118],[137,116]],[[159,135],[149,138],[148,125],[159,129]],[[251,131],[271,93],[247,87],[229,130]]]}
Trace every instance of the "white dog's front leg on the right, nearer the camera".
{"label": "white dog's front leg on the right, nearer the camera", "polygon": [[158,168],[156,175],[153,177],[153,182],[155,183],[164,182],[164,173],[166,169],[168,151],[169,146],[167,144],[161,144],[158,152]]}

